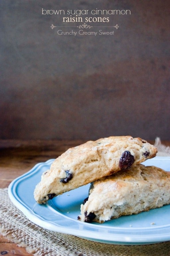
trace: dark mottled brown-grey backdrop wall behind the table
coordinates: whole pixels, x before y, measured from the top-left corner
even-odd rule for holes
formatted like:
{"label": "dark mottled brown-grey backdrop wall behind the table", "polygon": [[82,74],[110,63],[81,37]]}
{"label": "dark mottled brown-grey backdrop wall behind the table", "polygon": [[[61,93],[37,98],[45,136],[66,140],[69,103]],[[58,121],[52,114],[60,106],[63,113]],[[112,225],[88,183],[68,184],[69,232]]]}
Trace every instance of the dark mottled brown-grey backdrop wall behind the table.
{"label": "dark mottled brown-grey backdrop wall behind the table", "polygon": [[[42,8],[131,15],[109,16],[114,35],[59,36],[61,16]],[[169,0],[1,0],[0,12],[0,139],[170,140]]]}

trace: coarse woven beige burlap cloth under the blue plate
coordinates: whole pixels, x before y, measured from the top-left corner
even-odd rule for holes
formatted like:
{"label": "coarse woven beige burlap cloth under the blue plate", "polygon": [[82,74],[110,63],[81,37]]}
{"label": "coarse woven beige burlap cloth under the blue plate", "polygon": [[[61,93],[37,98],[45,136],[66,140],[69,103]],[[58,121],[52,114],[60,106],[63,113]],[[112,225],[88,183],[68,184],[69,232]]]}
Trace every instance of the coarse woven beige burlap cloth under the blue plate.
{"label": "coarse woven beige burlap cloth under the blue plate", "polygon": [[[158,156],[170,156],[170,147],[155,140]],[[110,245],[88,241],[45,230],[16,208],[8,197],[7,188],[0,189],[0,233],[33,255],[49,256],[169,256],[170,242],[151,245]]]}

